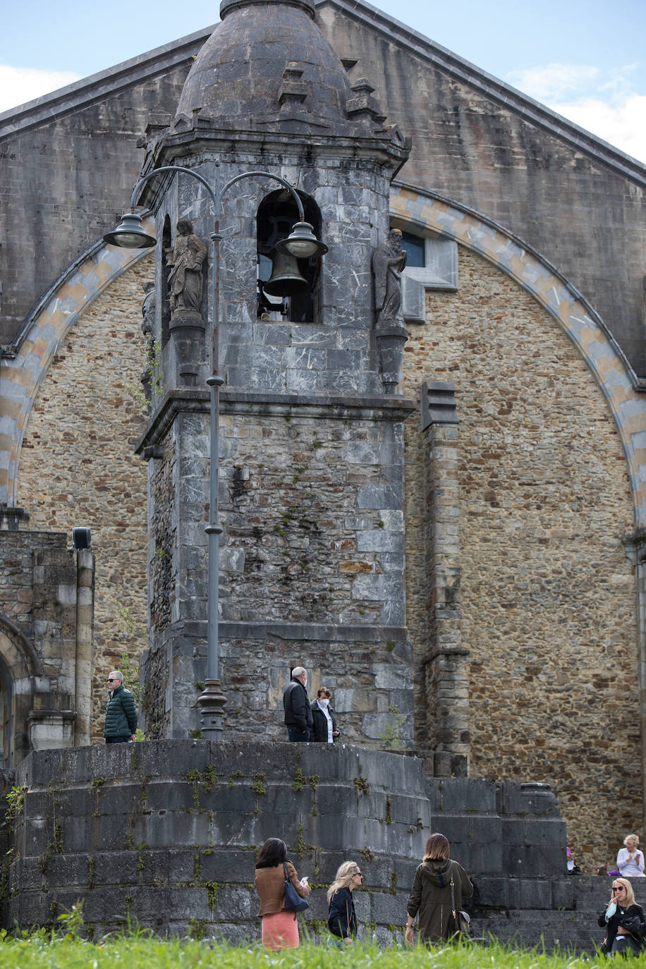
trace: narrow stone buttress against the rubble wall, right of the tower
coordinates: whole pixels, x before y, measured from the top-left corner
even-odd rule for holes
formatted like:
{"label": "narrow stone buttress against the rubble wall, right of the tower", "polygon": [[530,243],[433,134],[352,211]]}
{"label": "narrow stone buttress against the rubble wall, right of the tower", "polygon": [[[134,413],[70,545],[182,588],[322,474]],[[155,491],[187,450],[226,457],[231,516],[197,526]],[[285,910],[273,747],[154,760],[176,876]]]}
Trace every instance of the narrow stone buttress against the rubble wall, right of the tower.
{"label": "narrow stone buttress against the rubble wall, right of the tower", "polygon": [[460,611],[459,484],[455,388],[424,383],[421,430],[426,448],[425,546],[428,639],[423,683],[436,775],[469,769],[469,649]]}

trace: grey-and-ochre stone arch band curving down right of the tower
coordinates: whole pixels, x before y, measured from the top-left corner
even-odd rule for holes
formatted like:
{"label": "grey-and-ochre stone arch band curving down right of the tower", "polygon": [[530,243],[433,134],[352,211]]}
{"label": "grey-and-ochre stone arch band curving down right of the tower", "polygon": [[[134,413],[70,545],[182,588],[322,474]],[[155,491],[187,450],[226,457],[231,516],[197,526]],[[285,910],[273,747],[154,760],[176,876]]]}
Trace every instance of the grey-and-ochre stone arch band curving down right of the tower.
{"label": "grey-and-ochre stone arch band curving down right of the tower", "polygon": [[646,527],[646,398],[599,314],[538,252],[473,209],[393,182],[390,216],[454,239],[515,279],[557,320],[606,397],[628,462],[636,529]]}

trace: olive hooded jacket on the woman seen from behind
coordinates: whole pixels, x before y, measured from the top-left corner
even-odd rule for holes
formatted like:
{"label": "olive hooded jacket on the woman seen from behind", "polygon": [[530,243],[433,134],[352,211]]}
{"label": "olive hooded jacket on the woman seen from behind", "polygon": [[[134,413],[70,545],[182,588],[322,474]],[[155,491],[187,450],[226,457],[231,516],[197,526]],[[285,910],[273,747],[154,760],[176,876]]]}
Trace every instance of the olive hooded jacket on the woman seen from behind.
{"label": "olive hooded jacket on the woman seen from behind", "polygon": [[448,939],[458,931],[452,915],[451,877],[455,912],[459,913],[462,899],[474,893],[474,886],[461,864],[450,859],[422,861],[415,871],[408,913],[412,919],[419,913],[419,936],[424,942]]}

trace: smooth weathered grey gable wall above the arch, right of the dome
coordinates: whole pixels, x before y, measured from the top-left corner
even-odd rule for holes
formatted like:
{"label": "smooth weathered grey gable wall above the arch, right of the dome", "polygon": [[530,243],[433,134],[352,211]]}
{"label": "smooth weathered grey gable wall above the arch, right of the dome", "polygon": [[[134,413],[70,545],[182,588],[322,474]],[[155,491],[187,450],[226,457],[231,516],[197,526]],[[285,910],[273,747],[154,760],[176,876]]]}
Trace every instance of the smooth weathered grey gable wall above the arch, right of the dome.
{"label": "smooth weathered grey gable wall above the arch, right of the dome", "polygon": [[384,27],[379,11],[340,6],[317,5],[325,37],[339,57],[358,60],[351,82],[368,78],[387,123],[413,139],[397,177],[486,212],[533,245],[591,300],[644,373],[643,167],[629,162],[627,176],[621,152],[615,167],[602,143],[595,157],[594,139],[583,140],[591,150],[580,150],[567,139],[568,122],[563,138],[558,116],[546,112],[551,131],[535,123],[531,102],[497,90],[471,65],[456,65],[432,41]]}

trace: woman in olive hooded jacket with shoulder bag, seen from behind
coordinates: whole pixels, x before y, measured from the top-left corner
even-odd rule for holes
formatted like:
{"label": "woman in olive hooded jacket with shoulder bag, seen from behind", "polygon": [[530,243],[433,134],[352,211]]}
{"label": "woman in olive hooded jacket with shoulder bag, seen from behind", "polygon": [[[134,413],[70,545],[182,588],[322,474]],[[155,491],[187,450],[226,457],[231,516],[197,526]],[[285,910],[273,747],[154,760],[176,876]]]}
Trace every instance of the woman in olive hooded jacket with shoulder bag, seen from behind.
{"label": "woman in olive hooded jacket with shoulder bag, seen from behind", "polygon": [[457,861],[451,861],[448,839],[444,834],[431,834],[421,864],[415,871],[413,890],[408,903],[406,941],[413,945],[413,922],[419,913],[419,938],[423,942],[444,942],[466,932],[462,899],[474,893],[474,886]]}

